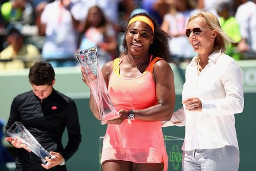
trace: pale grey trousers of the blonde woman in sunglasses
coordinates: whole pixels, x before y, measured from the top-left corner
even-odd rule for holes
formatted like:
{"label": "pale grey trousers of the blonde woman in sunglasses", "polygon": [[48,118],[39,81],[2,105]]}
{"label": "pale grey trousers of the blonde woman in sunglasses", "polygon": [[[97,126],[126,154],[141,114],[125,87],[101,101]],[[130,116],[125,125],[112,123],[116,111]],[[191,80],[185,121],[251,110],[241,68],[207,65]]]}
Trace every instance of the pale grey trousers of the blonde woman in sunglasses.
{"label": "pale grey trousers of the blonde woman in sunglasses", "polygon": [[183,171],[238,171],[239,150],[235,146],[184,151]]}

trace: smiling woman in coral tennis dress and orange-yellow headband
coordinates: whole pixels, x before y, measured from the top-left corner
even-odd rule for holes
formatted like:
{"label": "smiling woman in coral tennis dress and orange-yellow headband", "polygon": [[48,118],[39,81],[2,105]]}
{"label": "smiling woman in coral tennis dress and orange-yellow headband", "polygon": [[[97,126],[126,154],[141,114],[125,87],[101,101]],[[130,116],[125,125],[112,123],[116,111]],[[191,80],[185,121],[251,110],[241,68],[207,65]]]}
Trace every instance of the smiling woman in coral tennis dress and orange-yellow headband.
{"label": "smiling woman in coral tennis dress and orange-yellow headband", "polygon": [[[125,56],[105,63],[101,69],[119,113],[106,121],[102,168],[167,170],[161,121],[172,117],[175,105],[174,74],[165,61],[170,55],[168,36],[150,15],[135,14],[127,25],[123,50]],[[84,69],[81,71],[83,81],[91,87]],[[90,108],[100,119],[92,93]]]}

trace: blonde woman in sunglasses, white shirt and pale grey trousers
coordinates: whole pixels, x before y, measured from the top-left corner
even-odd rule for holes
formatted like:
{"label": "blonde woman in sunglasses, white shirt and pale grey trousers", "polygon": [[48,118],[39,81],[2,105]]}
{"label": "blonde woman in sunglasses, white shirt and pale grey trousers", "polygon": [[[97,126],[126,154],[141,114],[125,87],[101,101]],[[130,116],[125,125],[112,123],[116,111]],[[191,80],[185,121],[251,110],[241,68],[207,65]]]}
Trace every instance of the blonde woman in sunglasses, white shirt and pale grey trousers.
{"label": "blonde woman in sunglasses, white shirt and pale grey trousers", "polygon": [[239,147],[234,114],[244,107],[242,71],[225,55],[231,41],[218,18],[205,11],[191,16],[186,35],[198,53],[186,68],[183,109],[163,126],[185,127],[183,170],[225,170],[239,168]]}

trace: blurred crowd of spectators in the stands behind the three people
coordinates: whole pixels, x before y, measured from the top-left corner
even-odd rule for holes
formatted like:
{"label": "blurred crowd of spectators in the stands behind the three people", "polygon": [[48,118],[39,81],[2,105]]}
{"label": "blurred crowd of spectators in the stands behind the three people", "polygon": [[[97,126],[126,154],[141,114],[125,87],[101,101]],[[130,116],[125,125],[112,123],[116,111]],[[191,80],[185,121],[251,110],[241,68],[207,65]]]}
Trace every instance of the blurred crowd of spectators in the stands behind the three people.
{"label": "blurred crowd of spectators in the stands behind the three people", "polygon": [[188,62],[196,54],[186,24],[200,9],[217,15],[236,41],[226,54],[256,59],[256,0],[1,0],[0,71],[29,68],[39,60],[77,66],[77,51],[94,46],[102,66],[123,55],[126,22],[140,12],[155,17],[170,36],[169,62]]}

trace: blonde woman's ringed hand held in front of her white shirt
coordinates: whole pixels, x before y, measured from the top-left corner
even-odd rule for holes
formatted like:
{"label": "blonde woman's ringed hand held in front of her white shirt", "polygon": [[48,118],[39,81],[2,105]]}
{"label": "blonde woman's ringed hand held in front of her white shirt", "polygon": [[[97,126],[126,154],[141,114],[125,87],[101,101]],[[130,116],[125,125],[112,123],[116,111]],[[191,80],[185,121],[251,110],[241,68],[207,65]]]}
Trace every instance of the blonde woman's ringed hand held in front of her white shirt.
{"label": "blonde woman's ringed hand held in front of her white shirt", "polygon": [[191,97],[182,101],[188,111],[202,112],[202,101],[199,98]]}

